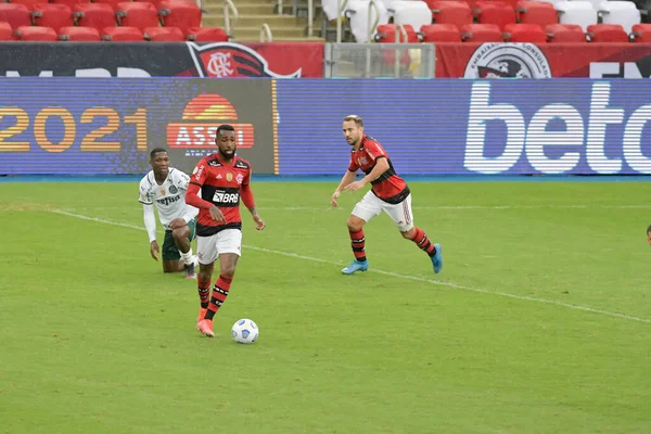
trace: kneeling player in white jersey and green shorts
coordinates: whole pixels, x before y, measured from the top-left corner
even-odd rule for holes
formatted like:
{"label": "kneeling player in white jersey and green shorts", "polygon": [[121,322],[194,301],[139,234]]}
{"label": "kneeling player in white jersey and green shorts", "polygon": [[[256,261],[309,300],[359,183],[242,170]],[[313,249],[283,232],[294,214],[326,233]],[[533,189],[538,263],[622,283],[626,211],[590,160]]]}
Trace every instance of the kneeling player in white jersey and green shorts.
{"label": "kneeling player in white jersey and green shorts", "polygon": [[140,181],[140,200],[144,212],[144,227],[150,240],[150,254],[158,260],[161,253],[156,241],[156,217],[165,228],[163,242],[163,271],[186,271],[186,277],[196,279],[195,257],[192,256],[192,240],[196,228],[199,209],[186,204],[186,191],[190,177],[181,170],[169,167],[169,156],[163,148],[150,153],[152,170]]}

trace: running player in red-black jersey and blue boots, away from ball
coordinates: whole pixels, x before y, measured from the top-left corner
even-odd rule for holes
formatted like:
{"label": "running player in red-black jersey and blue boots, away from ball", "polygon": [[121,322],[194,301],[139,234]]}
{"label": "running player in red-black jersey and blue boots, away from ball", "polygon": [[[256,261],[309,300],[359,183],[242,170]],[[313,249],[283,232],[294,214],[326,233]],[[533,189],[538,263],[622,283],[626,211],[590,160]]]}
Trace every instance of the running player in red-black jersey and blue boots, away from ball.
{"label": "running player in red-black jersey and blue boots, away from ball", "polygon": [[[357,203],[348,217],[348,233],[355,259],[342,272],[353,275],[355,271],[369,269],[363,225],[382,212],[394,220],[405,239],[413,241],[420,250],[430,256],[434,272],[439,272],[443,268],[441,245],[433,244],[422,229],[413,226],[409,187],[403,178],[396,175],[386,151],[380,143],[363,133],[363,122],[359,116],[346,116],[343,130],[346,141],[353,146],[350,163],[348,171],[346,171],[334,194],[332,194],[331,204],[332,206],[339,206],[336,200],[342,190],[357,191],[367,183],[371,184],[371,190]],[[366,176],[356,181],[355,178],[359,169]]]}

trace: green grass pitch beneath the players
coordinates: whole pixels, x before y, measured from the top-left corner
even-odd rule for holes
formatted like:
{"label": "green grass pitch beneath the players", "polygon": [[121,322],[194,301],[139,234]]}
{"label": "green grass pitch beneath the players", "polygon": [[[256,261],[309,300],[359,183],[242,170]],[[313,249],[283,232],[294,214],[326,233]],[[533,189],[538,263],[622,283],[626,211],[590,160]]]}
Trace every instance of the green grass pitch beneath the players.
{"label": "green grass pitch beneath the players", "polygon": [[443,272],[383,215],[350,277],[335,184],[254,179],[209,340],[137,182],[0,183],[0,433],[651,432],[648,183],[411,182]]}

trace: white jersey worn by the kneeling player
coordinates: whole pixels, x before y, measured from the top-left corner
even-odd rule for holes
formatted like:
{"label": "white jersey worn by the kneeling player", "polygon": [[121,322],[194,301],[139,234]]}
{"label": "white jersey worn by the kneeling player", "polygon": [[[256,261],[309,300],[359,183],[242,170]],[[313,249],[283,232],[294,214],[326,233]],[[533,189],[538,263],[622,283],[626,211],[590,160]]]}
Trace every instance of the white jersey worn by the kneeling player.
{"label": "white jersey worn by the kneeling player", "polygon": [[158,186],[154,178],[154,170],[150,170],[140,181],[138,202],[143,205],[155,204],[161,224],[165,229],[169,229],[168,225],[175,218],[190,221],[199,214],[199,209],[186,203],[186,191],[189,183],[188,175],[170,167],[167,178],[162,186]]}

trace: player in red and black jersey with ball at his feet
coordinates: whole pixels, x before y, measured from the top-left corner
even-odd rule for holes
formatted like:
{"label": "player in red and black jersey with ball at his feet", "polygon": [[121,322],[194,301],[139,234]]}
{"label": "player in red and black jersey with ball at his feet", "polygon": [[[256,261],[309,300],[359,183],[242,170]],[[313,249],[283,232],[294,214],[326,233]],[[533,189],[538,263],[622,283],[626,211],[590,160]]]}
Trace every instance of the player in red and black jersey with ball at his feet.
{"label": "player in red and black jersey with ball at his feet", "polygon": [[[265,222],[257,214],[251,191],[251,164],[235,155],[235,129],[230,125],[220,125],[215,143],[217,152],[199,162],[186,193],[186,203],[199,208],[196,280],[201,306],[196,328],[209,337],[215,336],[213,318],[228,296],[235,266],[242,254],[240,197],[253,216],[256,229],[265,229]],[[219,279],[210,294],[210,281],[217,257]]]}

